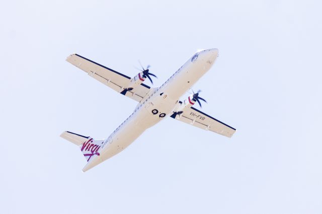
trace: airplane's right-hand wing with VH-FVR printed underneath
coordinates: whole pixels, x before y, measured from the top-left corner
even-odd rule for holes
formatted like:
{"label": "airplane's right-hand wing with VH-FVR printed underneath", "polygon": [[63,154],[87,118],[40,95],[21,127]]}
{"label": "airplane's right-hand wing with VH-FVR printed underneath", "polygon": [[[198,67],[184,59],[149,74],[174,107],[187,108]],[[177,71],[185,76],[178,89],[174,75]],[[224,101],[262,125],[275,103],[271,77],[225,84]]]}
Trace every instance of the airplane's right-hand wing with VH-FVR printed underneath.
{"label": "airplane's right-hand wing with VH-FVR printed underneath", "polygon": [[174,113],[171,117],[186,124],[209,130],[229,138],[236,132],[236,129],[231,126],[228,126],[193,107],[184,108],[183,113]]}

